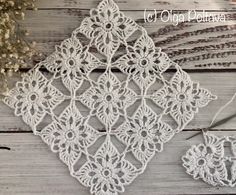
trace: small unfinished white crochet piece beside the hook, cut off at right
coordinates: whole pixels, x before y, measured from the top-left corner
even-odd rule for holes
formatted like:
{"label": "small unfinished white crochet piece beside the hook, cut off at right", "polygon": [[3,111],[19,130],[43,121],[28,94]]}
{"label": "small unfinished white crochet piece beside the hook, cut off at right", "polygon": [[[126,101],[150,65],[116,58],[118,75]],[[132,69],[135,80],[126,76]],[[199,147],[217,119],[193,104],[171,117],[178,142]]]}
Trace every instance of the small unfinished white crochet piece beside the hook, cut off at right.
{"label": "small unfinished white crochet piece beside the hook, cut off at right", "polygon": [[[236,185],[236,137],[204,133],[204,144],[192,146],[182,157],[186,172],[213,186]],[[230,152],[225,152],[226,144]]]}

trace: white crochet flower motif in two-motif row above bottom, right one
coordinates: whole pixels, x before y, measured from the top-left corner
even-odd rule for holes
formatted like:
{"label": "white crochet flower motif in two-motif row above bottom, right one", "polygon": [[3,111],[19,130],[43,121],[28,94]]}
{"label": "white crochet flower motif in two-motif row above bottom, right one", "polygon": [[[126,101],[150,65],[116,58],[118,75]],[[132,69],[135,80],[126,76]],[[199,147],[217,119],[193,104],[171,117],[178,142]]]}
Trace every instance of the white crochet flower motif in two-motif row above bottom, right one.
{"label": "white crochet flower motif in two-motif row above bottom, right one", "polygon": [[144,165],[163,150],[163,144],[175,134],[166,123],[148,107],[141,106],[134,117],[124,123],[118,130],[117,137],[130,145],[133,155]]}

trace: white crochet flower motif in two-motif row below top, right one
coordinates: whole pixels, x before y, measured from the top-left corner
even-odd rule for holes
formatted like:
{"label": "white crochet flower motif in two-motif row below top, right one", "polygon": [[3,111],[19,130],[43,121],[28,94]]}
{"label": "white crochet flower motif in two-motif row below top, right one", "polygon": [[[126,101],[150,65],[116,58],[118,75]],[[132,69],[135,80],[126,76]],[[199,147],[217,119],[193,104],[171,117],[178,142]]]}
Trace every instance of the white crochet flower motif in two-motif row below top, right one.
{"label": "white crochet flower motif in two-motif row below top, right one", "polygon": [[117,60],[114,66],[126,74],[132,73],[134,81],[140,87],[147,88],[174,64],[160,48],[155,48],[154,42],[145,31],[134,46],[129,46],[128,49],[128,53]]}

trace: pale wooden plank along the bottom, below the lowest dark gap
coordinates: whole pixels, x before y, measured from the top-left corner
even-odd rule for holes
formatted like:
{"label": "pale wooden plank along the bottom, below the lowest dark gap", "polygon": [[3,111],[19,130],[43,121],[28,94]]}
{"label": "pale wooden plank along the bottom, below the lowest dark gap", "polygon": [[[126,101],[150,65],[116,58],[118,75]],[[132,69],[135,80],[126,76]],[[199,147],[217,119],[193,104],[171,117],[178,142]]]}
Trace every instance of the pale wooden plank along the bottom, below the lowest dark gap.
{"label": "pale wooden plank along the bottom, below the lowest dark gap", "polygon": [[[213,133],[236,136],[236,132],[231,131]],[[151,160],[144,174],[126,187],[124,194],[235,194],[235,188],[212,187],[185,173],[181,156],[191,145],[202,142],[201,136],[186,141],[193,134],[177,134],[164,146],[164,151]],[[69,175],[67,167],[40,137],[30,133],[4,133],[0,143],[10,148],[0,150],[1,195],[89,195],[88,189]]]}

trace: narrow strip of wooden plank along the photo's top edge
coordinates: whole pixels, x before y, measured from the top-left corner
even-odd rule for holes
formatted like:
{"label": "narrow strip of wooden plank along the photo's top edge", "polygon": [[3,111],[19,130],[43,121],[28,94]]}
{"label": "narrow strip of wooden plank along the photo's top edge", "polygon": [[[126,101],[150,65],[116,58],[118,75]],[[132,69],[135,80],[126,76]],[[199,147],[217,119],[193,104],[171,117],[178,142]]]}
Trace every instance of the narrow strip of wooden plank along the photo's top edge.
{"label": "narrow strip of wooden plank along the photo's top edge", "polygon": [[[40,0],[37,1],[38,8],[94,8],[99,0]],[[121,10],[143,10],[143,9],[207,9],[207,10],[234,10],[236,4],[233,0],[117,0],[116,3]]]}

